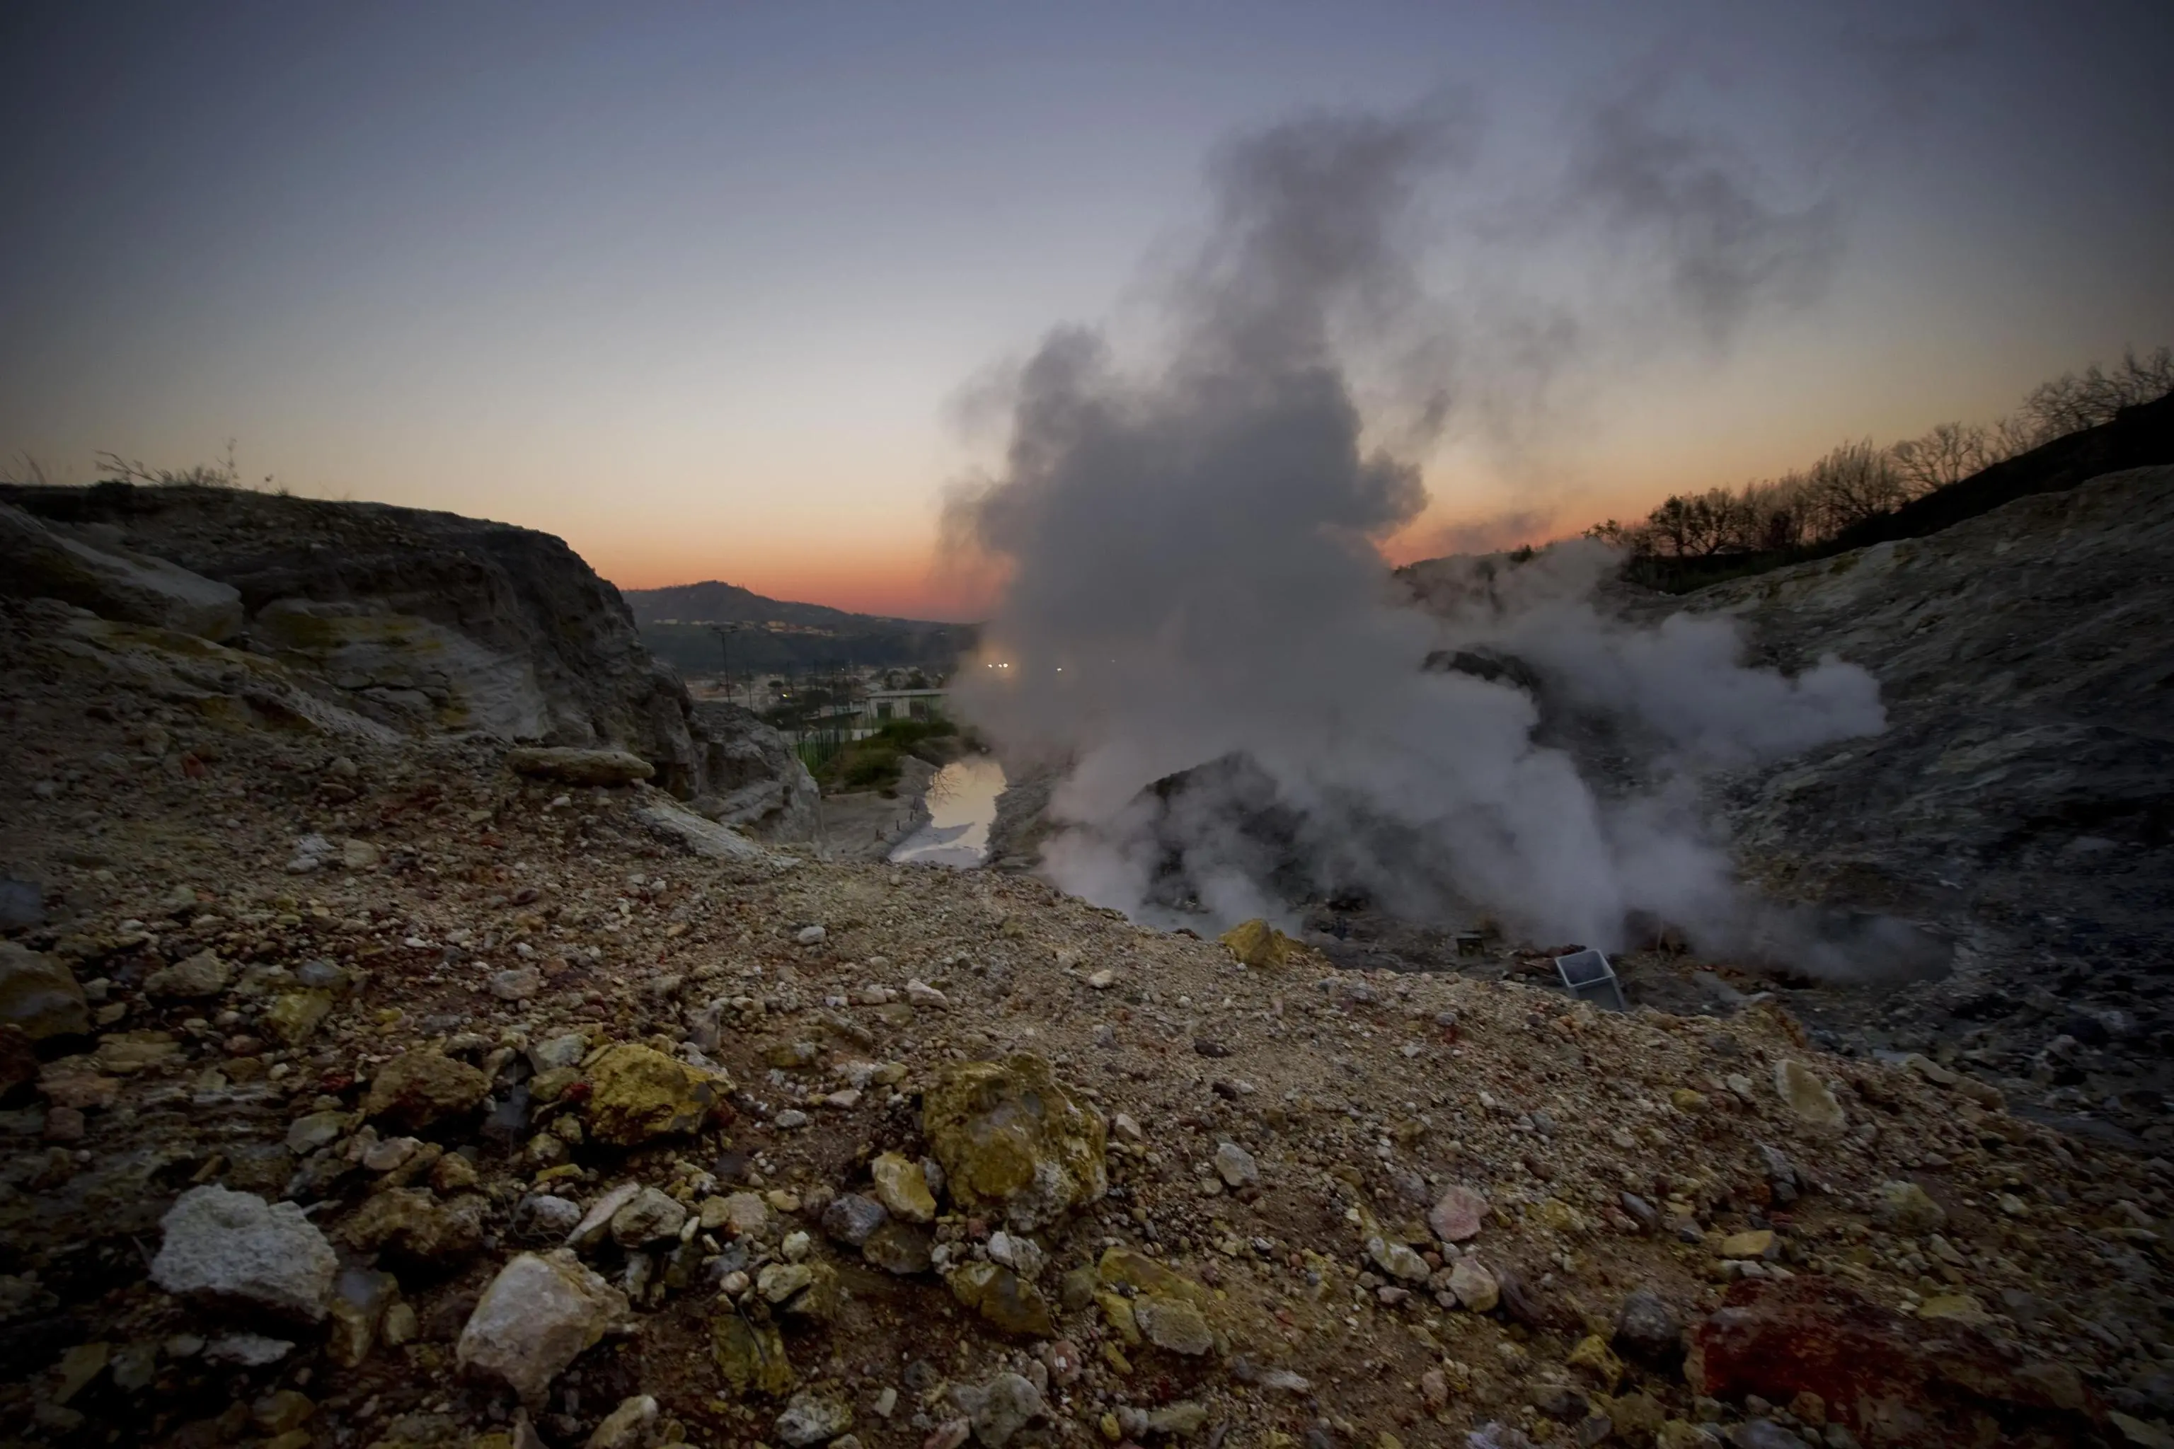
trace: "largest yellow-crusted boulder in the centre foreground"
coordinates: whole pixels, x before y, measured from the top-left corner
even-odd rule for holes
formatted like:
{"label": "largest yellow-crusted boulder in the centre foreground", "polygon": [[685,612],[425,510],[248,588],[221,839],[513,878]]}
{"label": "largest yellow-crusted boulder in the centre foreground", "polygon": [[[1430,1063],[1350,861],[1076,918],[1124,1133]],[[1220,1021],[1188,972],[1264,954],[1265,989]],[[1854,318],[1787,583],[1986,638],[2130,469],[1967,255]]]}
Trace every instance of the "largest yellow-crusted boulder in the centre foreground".
{"label": "largest yellow-crusted boulder in the centre foreground", "polygon": [[963,1062],[922,1097],[922,1125],[961,1208],[998,1208],[1030,1232],[1109,1190],[1102,1119],[1039,1056]]}

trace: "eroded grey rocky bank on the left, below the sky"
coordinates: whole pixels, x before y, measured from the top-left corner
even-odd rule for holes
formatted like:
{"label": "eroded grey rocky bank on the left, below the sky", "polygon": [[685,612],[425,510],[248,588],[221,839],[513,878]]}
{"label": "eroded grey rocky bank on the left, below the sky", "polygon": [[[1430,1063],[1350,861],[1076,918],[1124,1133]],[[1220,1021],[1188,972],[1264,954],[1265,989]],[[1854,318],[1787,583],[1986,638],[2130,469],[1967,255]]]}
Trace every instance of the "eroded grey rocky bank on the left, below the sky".
{"label": "eroded grey rocky bank on the left, below the sky", "polygon": [[617,591],[550,534],[246,489],[0,487],[0,560],[17,597],[254,656],[124,641],[146,667],[178,650],[200,673],[259,676],[280,708],[307,695],[317,723],[626,747],[676,795],[713,797],[713,817],[780,839],[813,828],[815,786],[776,732],[744,710],[698,715]]}

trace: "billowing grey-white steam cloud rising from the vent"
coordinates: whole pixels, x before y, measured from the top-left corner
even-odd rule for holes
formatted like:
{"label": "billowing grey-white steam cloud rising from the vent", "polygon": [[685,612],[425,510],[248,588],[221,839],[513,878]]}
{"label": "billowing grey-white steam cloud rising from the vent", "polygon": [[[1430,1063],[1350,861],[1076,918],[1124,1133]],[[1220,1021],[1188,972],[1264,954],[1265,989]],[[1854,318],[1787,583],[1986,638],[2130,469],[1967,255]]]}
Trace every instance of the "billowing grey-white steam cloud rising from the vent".
{"label": "billowing grey-white steam cloud rising from the vent", "polygon": [[[1815,291],[1824,209],[1763,206],[1644,111],[1600,119],[1576,196],[1546,211],[1644,248],[1689,345]],[[1378,541],[1426,493],[1374,439],[1415,450],[1528,408],[1596,341],[1557,306],[1422,287],[1424,182],[1474,152],[1472,115],[1446,104],[1248,137],[1211,172],[1167,356],[1126,367],[1059,330],[1017,374],[1002,471],[948,513],[1007,578],[989,628],[1007,667],[974,669],[963,706],[1009,758],[1063,765],[1044,849],[1063,889],[1141,910],[1176,860],[1222,919],[1361,889],[1539,941],[1613,947],[1633,912],[1744,938],[1698,780],[1883,726],[1852,665],[1783,678],[1744,667],[1728,623],[1615,621],[1594,602],[1613,565],[1598,545],[1437,571],[1426,608],[1385,569]],[[1363,411],[1352,378],[1376,374]],[[1537,700],[1602,721],[1635,769],[1580,773]],[[1191,789],[1144,795],[1204,763]]]}

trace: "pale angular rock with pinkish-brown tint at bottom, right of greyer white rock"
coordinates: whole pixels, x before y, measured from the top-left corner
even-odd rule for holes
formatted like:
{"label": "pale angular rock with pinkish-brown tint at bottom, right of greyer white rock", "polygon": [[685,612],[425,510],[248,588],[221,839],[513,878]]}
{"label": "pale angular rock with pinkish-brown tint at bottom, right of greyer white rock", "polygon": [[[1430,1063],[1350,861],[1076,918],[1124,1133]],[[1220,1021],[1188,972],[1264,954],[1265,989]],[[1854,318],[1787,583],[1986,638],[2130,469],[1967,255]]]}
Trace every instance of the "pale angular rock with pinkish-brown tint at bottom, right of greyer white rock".
{"label": "pale angular rock with pinkish-brown tint at bottom, right of greyer white rock", "polygon": [[535,1406],[550,1382],[624,1314],[626,1295],[574,1253],[522,1253],[483,1290],[454,1358],[463,1369],[502,1379]]}

